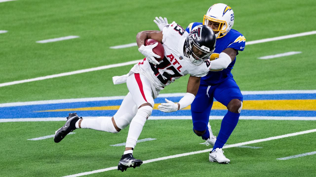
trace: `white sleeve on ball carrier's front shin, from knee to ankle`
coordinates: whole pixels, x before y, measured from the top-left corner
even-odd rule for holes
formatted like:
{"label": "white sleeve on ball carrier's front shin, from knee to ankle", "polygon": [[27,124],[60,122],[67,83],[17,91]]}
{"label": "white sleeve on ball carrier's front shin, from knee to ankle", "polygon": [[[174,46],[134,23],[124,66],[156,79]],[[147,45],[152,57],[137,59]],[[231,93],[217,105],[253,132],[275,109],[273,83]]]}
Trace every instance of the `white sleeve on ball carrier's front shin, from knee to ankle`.
{"label": "white sleeve on ball carrier's front shin, from knee to ankle", "polygon": [[134,148],[136,146],[137,139],[143,130],[147,118],[151,115],[152,110],[153,108],[151,106],[143,106],[138,109],[135,117],[131,121],[125,147]]}

